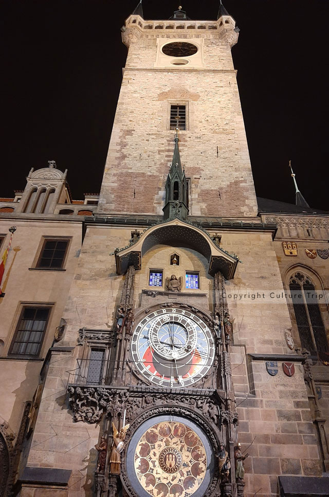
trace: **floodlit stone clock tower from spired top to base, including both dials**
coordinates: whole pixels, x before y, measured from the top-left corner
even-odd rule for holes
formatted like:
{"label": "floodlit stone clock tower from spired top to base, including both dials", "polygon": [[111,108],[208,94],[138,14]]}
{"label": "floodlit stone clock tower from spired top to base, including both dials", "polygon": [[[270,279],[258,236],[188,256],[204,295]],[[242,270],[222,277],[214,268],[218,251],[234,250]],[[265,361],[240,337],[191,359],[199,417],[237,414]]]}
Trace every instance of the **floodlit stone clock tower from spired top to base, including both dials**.
{"label": "floodlit stone clock tower from spired top to base, including both dials", "polygon": [[279,475],[321,472],[304,358],[269,293],[284,290],[276,225],[258,217],[238,31],[222,3],[216,21],[179,8],[156,22],[140,3],[122,27],[99,206],[43,368],[23,497],[268,497]]}

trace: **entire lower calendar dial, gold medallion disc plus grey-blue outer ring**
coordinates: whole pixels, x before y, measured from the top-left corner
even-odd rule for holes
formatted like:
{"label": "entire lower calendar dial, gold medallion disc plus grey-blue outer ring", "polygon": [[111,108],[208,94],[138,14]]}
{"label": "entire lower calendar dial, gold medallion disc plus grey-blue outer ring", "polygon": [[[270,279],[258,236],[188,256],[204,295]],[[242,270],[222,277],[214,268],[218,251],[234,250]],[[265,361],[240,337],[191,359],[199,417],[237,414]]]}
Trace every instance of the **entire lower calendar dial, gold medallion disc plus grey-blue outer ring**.
{"label": "entire lower calendar dial, gold medallion disc plus grey-blue outer ring", "polygon": [[143,423],[127,449],[129,479],[140,497],[202,497],[214,457],[209,440],[185,418],[162,415]]}

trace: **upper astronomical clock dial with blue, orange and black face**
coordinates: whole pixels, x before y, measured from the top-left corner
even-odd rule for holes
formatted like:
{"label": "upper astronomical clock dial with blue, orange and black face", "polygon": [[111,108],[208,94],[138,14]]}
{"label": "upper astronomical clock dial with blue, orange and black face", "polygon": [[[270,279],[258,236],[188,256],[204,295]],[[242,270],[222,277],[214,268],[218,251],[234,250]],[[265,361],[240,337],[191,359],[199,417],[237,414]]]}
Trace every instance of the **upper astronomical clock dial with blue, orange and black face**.
{"label": "upper astronomical clock dial with blue, orange and black face", "polygon": [[190,386],[211,367],[215,344],[210,328],[185,309],[159,309],[137,325],[132,358],[141,374],[159,386]]}

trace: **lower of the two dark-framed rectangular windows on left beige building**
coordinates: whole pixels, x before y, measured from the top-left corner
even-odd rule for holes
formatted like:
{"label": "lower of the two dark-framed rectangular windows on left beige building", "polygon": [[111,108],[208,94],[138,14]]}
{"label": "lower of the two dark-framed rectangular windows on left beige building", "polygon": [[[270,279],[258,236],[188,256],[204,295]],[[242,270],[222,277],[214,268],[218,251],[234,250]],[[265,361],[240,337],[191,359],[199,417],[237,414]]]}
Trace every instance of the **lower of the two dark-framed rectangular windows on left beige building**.
{"label": "lower of the two dark-framed rectangular windows on left beige building", "polygon": [[50,307],[23,307],[10,354],[38,356],[44,339]]}

